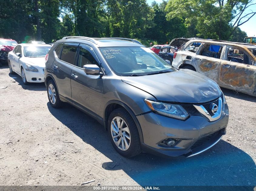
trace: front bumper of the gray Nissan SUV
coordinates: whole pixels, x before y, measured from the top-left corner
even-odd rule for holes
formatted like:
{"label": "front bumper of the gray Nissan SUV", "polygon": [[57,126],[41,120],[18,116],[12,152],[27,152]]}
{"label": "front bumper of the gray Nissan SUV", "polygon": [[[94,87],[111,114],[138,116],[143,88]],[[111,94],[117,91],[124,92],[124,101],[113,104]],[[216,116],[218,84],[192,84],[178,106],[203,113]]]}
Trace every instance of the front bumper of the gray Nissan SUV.
{"label": "front bumper of the gray Nissan SUV", "polygon": [[[170,157],[199,154],[215,145],[226,133],[228,116],[227,104],[223,104],[221,117],[212,122],[202,116],[190,116],[181,121],[153,112],[137,116],[143,132],[142,150]],[[178,144],[159,144],[166,138],[179,140]]]}

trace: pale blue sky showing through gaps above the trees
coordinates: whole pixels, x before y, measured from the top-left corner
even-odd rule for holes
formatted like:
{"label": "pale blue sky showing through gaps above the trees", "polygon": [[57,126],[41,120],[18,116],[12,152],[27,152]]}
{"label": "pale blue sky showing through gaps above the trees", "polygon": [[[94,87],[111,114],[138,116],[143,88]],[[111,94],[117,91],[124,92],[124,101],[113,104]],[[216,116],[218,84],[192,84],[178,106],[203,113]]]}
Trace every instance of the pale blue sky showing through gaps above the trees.
{"label": "pale blue sky showing through gaps above the trees", "polygon": [[[151,5],[151,3],[154,0],[147,0],[147,3],[149,5]],[[161,3],[162,0],[155,0],[157,3]],[[256,3],[256,0],[253,1],[253,3]],[[249,7],[250,9],[247,10],[247,13],[250,13],[250,10],[255,11],[256,10],[256,5],[252,5],[251,7]],[[246,19],[245,19],[246,20]],[[249,21],[247,21],[246,23],[242,24],[240,26],[241,30],[245,31],[247,33],[248,37],[256,37],[256,15],[254,15]]]}

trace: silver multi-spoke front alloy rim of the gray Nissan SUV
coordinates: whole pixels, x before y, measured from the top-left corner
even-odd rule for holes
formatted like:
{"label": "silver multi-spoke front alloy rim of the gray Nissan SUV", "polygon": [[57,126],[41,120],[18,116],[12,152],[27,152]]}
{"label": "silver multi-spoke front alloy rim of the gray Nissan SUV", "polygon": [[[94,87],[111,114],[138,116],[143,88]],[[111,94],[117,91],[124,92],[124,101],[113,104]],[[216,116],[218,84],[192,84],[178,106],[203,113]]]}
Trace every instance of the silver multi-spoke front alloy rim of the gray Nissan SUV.
{"label": "silver multi-spoke front alloy rim of the gray Nissan SUV", "polygon": [[131,134],[125,120],[115,117],[111,122],[111,135],[115,145],[122,151],[128,150],[131,145]]}

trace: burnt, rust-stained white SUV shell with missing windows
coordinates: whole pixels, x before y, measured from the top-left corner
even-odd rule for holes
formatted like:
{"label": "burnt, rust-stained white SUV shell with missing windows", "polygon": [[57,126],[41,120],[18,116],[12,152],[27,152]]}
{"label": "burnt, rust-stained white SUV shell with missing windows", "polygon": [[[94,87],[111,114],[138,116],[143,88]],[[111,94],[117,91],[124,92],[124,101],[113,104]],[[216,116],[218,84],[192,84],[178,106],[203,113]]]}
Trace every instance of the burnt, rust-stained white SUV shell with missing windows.
{"label": "burnt, rust-stained white SUV shell with missing windows", "polygon": [[172,65],[211,78],[223,88],[256,96],[256,45],[191,40],[175,53]]}

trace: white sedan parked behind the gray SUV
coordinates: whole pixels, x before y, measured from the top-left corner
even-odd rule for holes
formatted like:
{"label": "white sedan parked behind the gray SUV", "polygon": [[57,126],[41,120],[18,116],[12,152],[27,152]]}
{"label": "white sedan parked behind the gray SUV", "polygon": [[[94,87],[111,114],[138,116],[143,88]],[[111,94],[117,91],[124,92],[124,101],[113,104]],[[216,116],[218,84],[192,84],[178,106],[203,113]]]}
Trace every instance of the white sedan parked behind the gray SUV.
{"label": "white sedan parked behind the gray SUV", "polygon": [[47,44],[18,44],[8,53],[10,73],[17,73],[24,84],[44,82],[45,55],[52,48]]}

